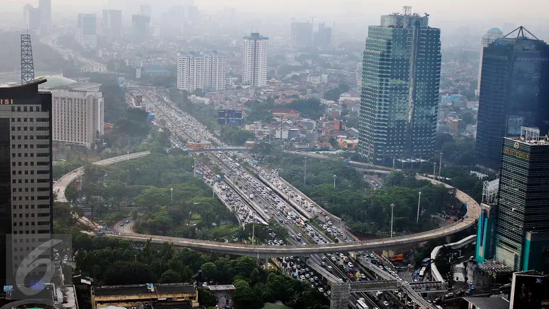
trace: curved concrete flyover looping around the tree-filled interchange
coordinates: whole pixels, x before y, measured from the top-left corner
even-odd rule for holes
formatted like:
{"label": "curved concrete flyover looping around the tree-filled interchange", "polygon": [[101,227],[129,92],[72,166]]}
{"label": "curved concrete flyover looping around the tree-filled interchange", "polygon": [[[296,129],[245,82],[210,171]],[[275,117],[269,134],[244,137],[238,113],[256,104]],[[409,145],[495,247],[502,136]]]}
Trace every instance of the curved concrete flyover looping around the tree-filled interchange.
{"label": "curved concrete flyover looping around the tree-filled interchange", "polygon": [[[97,161],[97,165],[108,165],[123,162],[128,159],[135,159],[138,157],[144,157],[149,155],[150,152],[137,152],[130,155],[122,155],[119,157],[113,157],[110,159],[105,159],[102,161]],[[78,168],[69,172],[65,176],[62,176],[61,179],[54,185],[54,191],[57,194],[57,201],[67,201],[65,198],[65,189],[71,181],[74,181],[78,176],[83,172],[82,168]],[[431,181],[437,185],[445,185],[448,189],[454,190],[454,187],[441,183],[424,176],[417,176],[418,179],[425,179]],[[171,242],[175,246],[187,247],[191,249],[197,249],[200,251],[211,251],[218,253],[231,253],[235,255],[248,255],[252,257],[260,258],[275,258],[280,256],[290,256],[290,255],[312,255],[316,253],[332,253],[332,252],[347,252],[347,251],[372,251],[372,250],[383,250],[388,248],[402,247],[409,244],[416,244],[419,242],[424,242],[427,240],[432,240],[436,238],[442,238],[445,236],[452,235],[458,231],[463,231],[469,227],[473,227],[480,216],[480,206],[474,201],[473,198],[467,194],[461,192],[460,190],[455,190],[456,198],[462,203],[467,205],[467,214],[463,219],[458,220],[450,225],[441,227],[439,229],[434,229],[431,231],[425,231],[421,233],[414,233],[406,236],[397,236],[393,238],[382,238],[377,240],[365,240],[360,242],[344,242],[338,244],[316,244],[316,245],[307,245],[307,246],[281,246],[281,247],[272,247],[272,246],[263,246],[263,245],[252,245],[252,244],[232,244],[224,242],[210,242],[205,240],[193,240],[187,238],[176,238],[176,237],[167,237],[167,236],[156,236],[156,235],[145,235],[145,234],[126,234],[126,233],[113,233],[106,234],[107,237],[120,238],[126,240],[132,240],[137,242],[146,242],[151,240],[153,243],[162,244],[164,242]]]}

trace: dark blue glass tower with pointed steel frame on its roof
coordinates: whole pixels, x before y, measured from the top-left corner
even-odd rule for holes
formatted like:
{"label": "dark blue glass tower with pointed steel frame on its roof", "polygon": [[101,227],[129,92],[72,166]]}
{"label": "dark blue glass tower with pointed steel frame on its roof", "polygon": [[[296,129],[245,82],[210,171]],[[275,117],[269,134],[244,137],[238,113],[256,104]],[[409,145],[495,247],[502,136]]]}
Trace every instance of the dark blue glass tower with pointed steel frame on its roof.
{"label": "dark blue glass tower with pointed steel frame on its roof", "polygon": [[518,27],[485,47],[475,144],[478,167],[498,172],[502,138],[519,136],[522,126],[548,132],[548,100],[549,46],[544,41]]}

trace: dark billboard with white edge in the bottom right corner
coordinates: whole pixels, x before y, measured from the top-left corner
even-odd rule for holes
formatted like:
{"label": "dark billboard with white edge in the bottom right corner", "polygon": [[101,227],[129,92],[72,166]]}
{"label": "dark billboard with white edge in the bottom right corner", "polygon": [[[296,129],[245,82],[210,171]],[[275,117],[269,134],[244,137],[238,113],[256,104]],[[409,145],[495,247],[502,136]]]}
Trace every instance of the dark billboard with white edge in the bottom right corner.
{"label": "dark billboard with white edge in the bottom right corner", "polygon": [[549,308],[549,275],[513,273],[511,306],[509,309]]}

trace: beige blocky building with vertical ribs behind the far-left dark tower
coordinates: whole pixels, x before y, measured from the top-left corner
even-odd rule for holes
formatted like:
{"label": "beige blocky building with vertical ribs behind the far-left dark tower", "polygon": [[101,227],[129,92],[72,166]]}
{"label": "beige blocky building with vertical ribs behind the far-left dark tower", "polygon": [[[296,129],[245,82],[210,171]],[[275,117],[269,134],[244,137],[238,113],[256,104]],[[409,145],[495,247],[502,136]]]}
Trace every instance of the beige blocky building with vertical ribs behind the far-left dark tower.
{"label": "beige blocky building with vertical ribs behind the far-left dark tower", "polygon": [[53,140],[90,148],[104,133],[101,84],[47,76],[41,89],[51,91]]}

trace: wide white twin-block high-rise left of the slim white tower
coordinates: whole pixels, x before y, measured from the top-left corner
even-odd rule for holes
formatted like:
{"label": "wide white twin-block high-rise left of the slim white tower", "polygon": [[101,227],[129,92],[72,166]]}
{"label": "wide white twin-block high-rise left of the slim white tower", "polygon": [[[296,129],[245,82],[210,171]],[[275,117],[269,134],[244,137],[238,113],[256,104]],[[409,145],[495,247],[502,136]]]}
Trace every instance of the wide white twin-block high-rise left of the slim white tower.
{"label": "wide white twin-block high-rise left of the slim white tower", "polygon": [[194,91],[211,87],[225,90],[227,57],[217,51],[191,52],[177,56],[177,88]]}

